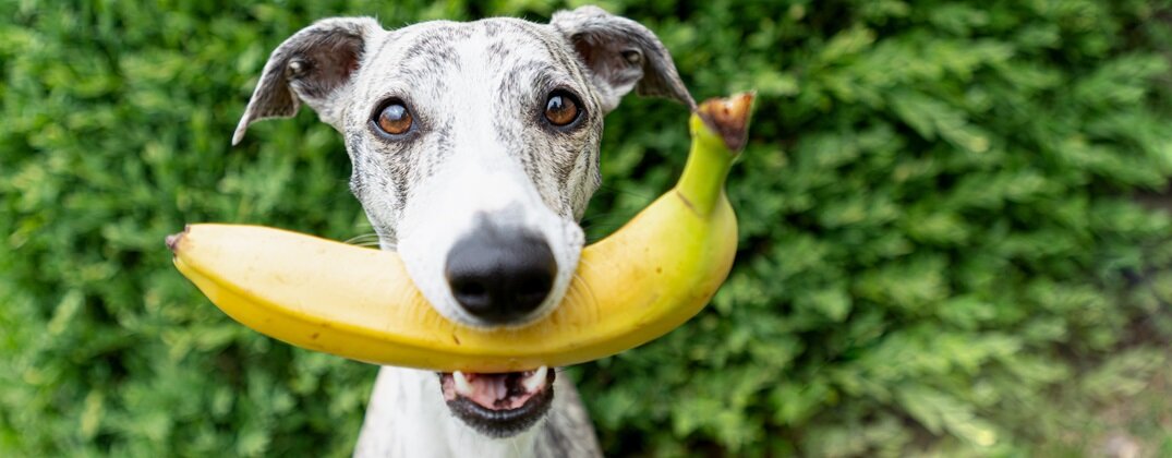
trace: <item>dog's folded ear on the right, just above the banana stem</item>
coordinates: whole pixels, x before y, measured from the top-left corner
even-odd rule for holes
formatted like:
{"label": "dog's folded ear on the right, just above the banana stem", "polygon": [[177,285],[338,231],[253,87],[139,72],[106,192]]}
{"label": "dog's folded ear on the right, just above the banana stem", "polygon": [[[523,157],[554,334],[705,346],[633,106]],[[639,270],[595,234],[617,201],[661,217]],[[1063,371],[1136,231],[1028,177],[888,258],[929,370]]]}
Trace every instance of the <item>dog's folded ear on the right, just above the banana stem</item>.
{"label": "dog's folded ear on the right, just above the banana stem", "polygon": [[570,40],[586,63],[604,110],[618,107],[632,88],[639,95],[674,98],[696,109],[672,55],[641,23],[584,6],[554,13],[550,25]]}

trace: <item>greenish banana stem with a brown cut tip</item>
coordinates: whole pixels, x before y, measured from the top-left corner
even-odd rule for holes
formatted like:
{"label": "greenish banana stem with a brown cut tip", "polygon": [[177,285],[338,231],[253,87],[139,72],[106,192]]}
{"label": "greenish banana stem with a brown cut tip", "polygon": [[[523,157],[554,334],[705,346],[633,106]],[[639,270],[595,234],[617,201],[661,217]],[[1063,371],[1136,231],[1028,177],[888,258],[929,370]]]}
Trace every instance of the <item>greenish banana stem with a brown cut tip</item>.
{"label": "greenish banana stem with a brown cut tip", "polygon": [[724,199],[724,179],[744,146],[752,93],[709,98],[691,115],[691,150],[675,191],[706,217]]}

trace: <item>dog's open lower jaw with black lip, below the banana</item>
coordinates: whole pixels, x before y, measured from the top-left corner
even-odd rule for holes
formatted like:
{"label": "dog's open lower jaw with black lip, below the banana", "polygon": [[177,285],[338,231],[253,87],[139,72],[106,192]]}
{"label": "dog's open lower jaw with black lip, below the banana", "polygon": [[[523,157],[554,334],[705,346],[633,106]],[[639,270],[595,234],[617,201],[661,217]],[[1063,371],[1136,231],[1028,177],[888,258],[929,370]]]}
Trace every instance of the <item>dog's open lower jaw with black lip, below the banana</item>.
{"label": "dog's open lower jaw with black lip, below the banana", "polygon": [[[438,372],[451,413],[492,438],[509,438],[537,424],[553,403],[553,369],[504,374]],[[468,383],[457,383],[462,376]]]}

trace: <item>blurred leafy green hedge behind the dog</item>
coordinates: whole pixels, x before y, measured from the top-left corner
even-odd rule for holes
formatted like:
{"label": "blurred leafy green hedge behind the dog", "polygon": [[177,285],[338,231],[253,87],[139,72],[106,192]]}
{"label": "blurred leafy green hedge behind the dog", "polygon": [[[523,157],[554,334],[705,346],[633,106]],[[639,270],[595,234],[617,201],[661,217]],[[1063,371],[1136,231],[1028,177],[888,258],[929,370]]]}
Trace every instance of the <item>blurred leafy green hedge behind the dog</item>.
{"label": "blurred leafy green hedge behind the dog", "polygon": [[[1134,196],[1172,176],[1172,2],[601,5],[659,33],[697,97],[761,94],[729,282],[568,372],[612,454],[1069,453],[1166,362],[1172,220]],[[0,454],[348,453],[375,368],[233,323],[163,237],[369,232],[308,110],[229,148],[267,54],[314,19],[558,7],[0,0]],[[679,173],[684,115],[607,118],[592,238]]]}

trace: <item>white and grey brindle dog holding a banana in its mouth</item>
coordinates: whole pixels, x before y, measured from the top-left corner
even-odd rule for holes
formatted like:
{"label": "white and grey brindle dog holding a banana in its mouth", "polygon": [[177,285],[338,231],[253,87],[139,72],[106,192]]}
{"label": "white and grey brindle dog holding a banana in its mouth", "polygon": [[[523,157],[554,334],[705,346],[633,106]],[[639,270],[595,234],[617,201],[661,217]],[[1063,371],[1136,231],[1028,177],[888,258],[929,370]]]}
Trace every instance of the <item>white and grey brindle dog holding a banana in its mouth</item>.
{"label": "white and grey brindle dog holding a banana in its mouth", "polygon": [[[270,56],[233,135],[301,103],[343,135],[349,187],[444,317],[519,327],[561,301],[598,189],[602,118],[635,90],[695,109],[667,49],[598,7],[387,30],[318,21]],[[554,392],[557,396],[554,396]],[[599,456],[556,370],[383,367],[356,457]]]}

